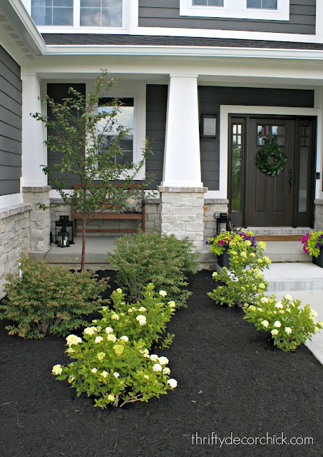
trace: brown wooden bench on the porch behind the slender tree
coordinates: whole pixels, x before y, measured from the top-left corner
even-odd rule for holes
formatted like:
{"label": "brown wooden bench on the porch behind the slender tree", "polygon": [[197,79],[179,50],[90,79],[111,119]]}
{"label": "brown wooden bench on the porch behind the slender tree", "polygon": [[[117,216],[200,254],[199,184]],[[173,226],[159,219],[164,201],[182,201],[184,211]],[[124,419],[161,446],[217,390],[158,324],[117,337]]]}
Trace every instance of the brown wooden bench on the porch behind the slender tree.
{"label": "brown wooden bench on the porch behind the slender tree", "polygon": [[[101,186],[100,183],[95,183],[93,186]],[[122,186],[122,184],[114,184],[116,187]],[[81,184],[74,184],[74,189],[77,190],[79,187],[81,187]],[[142,184],[130,184],[128,189],[125,190],[125,192],[129,192],[131,195],[131,191],[138,189],[142,189],[143,191],[143,186]],[[123,221],[129,221],[129,220],[136,220],[136,221],[141,221],[141,230],[144,232],[145,231],[145,201],[141,201],[141,207],[142,211],[140,213],[138,212],[116,212],[116,211],[111,211],[111,203],[110,201],[110,196],[107,194],[106,197],[106,203],[104,204],[105,208],[102,211],[97,211],[96,213],[91,213],[91,220],[92,219],[103,219],[103,220],[112,220],[112,219],[119,219]],[[77,220],[78,219],[83,219],[82,213],[77,211],[76,209],[71,206],[71,221],[73,221],[74,224],[74,236],[76,236],[77,232],[81,232],[82,229],[77,228]],[[138,229],[86,229],[88,232],[127,232],[127,233],[133,233],[137,232]]]}

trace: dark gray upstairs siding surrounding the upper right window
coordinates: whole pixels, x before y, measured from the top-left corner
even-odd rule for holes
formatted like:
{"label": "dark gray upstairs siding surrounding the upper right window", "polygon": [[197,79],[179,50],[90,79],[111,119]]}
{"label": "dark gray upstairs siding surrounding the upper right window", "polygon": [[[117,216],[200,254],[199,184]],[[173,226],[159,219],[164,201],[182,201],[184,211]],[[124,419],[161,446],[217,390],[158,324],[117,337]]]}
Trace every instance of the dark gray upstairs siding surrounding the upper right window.
{"label": "dark gray upstairs siding surrounding the upper right window", "polygon": [[139,0],[140,27],[267,31],[315,34],[316,0],[290,0],[289,21],[180,16],[180,0]]}

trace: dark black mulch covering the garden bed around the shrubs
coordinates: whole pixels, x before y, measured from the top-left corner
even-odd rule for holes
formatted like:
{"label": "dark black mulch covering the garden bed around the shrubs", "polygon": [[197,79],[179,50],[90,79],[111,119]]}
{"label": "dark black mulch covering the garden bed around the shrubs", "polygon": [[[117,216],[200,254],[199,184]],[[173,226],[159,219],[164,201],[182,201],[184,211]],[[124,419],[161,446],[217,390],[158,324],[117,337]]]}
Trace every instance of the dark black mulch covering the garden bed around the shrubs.
{"label": "dark black mulch covering the garden bed around the shrubs", "polygon": [[[109,272],[110,273],[110,272]],[[113,272],[111,272],[113,275]],[[65,340],[8,336],[1,321],[0,455],[4,457],[323,456],[323,367],[305,346],[276,350],[240,309],[207,297],[210,271],[189,277],[188,308],[168,325],[178,388],[124,408],[93,408],[51,368],[66,363]],[[207,443],[219,438],[312,437],[311,445]],[[198,435],[196,435],[196,433]],[[192,436],[205,437],[203,445]],[[262,441],[264,442],[264,441]]]}

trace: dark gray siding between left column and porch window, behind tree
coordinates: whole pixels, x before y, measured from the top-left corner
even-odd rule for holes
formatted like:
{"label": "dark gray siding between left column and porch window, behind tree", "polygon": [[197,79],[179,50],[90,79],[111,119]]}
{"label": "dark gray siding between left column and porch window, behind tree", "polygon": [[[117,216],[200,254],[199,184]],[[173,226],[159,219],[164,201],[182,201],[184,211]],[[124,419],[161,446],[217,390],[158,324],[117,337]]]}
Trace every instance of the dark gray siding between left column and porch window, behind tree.
{"label": "dark gray siding between left column and porch window, behind tree", "polygon": [[[81,94],[86,94],[86,85],[85,84],[47,84],[47,95],[53,99],[56,103],[62,103],[62,99],[68,97],[68,88],[73,87],[76,91]],[[51,119],[51,113],[48,113],[49,118]],[[53,135],[53,132],[48,129],[48,135]],[[53,153],[49,149],[47,151],[47,163],[48,167],[52,170],[52,176],[54,179],[61,179],[61,174],[54,171],[54,165],[58,164],[62,159],[62,154]],[[72,174],[64,174],[64,179],[68,181],[67,189],[73,189],[74,183],[78,182],[78,176]],[[53,184],[51,179],[48,179],[48,184],[52,186],[53,189],[56,189],[56,186]]]}

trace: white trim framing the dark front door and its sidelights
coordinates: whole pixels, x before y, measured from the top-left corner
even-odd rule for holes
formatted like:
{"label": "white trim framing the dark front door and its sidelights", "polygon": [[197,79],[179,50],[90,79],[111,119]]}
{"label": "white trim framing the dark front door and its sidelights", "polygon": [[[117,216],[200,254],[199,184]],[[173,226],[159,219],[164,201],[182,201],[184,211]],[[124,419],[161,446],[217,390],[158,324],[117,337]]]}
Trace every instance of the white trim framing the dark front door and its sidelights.
{"label": "white trim framing the dark front door and its sidelights", "polygon": [[[322,109],[317,108],[284,108],[280,106],[220,106],[220,189],[208,191],[206,199],[227,199],[227,154],[229,114],[272,114],[273,116],[317,116],[317,164],[316,171],[321,178],[316,181],[315,199],[322,199]],[[320,128],[321,126],[321,128]]]}

